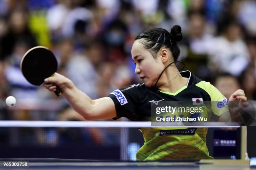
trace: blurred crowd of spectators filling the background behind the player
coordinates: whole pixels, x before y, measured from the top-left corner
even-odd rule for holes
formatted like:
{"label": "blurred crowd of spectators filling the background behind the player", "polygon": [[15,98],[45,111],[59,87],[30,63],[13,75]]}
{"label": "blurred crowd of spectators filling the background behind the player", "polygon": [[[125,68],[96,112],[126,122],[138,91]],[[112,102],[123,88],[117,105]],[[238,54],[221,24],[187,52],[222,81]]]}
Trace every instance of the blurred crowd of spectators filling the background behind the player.
{"label": "blurred crowd of spectators filling the background behind the player", "polygon": [[[227,98],[242,88],[255,100],[255,16],[255,0],[0,0],[0,120],[84,120],[64,97],[22,76],[20,61],[31,47],[49,47],[58,72],[96,99],[140,82],[133,40],[173,25],[182,27],[184,70]],[[15,107],[6,107],[9,95]]]}

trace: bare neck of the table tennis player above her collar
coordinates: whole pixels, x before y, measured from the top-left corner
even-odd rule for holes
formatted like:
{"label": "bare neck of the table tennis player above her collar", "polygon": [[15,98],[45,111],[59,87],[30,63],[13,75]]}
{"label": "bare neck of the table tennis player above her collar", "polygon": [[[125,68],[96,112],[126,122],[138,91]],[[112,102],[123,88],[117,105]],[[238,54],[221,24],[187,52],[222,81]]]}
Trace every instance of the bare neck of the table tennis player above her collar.
{"label": "bare neck of the table tennis player above her collar", "polygon": [[182,77],[182,75],[180,75],[177,67],[169,67],[166,69],[161,79],[159,80],[158,89],[163,92],[175,93],[182,87],[186,86],[188,80],[188,78]]}

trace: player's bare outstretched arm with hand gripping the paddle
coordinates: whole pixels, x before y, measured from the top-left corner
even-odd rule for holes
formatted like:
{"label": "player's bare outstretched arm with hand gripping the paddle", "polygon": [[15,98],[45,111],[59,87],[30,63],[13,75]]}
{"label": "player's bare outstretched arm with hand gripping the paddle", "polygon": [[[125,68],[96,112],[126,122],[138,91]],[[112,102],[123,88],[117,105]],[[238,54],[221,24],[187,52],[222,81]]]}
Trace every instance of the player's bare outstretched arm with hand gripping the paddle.
{"label": "player's bare outstretched arm with hand gripping the paddle", "polygon": [[110,97],[102,97],[92,100],[80,91],[67,77],[55,73],[44,81],[44,87],[49,91],[55,91],[56,85],[61,88],[64,97],[72,105],[74,110],[87,120],[107,119],[116,117],[115,104]]}

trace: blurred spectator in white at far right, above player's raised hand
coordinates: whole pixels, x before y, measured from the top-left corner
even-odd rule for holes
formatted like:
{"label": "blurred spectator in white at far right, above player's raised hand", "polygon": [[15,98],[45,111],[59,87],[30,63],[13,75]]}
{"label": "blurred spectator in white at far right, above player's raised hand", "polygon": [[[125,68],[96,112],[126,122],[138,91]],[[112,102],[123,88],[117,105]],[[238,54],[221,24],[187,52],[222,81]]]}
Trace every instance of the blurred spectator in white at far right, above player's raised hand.
{"label": "blurred spectator in white at far right, above player's raised hand", "polygon": [[228,72],[239,76],[250,62],[246,43],[242,40],[242,31],[238,23],[223,23],[222,35],[216,37],[210,49],[210,65],[214,71]]}

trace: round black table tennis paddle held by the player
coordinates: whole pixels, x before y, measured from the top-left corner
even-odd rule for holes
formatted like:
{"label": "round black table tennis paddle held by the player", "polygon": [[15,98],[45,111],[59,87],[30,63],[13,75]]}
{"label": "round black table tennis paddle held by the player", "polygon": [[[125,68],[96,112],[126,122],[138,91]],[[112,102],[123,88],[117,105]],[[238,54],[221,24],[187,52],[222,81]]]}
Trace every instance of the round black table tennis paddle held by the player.
{"label": "round black table tennis paddle held by the player", "polygon": [[[44,79],[53,76],[57,68],[56,57],[43,46],[36,46],[28,50],[20,62],[22,74],[32,85],[44,83]],[[57,96],[62,95],[58,86],[54,92]]]}

